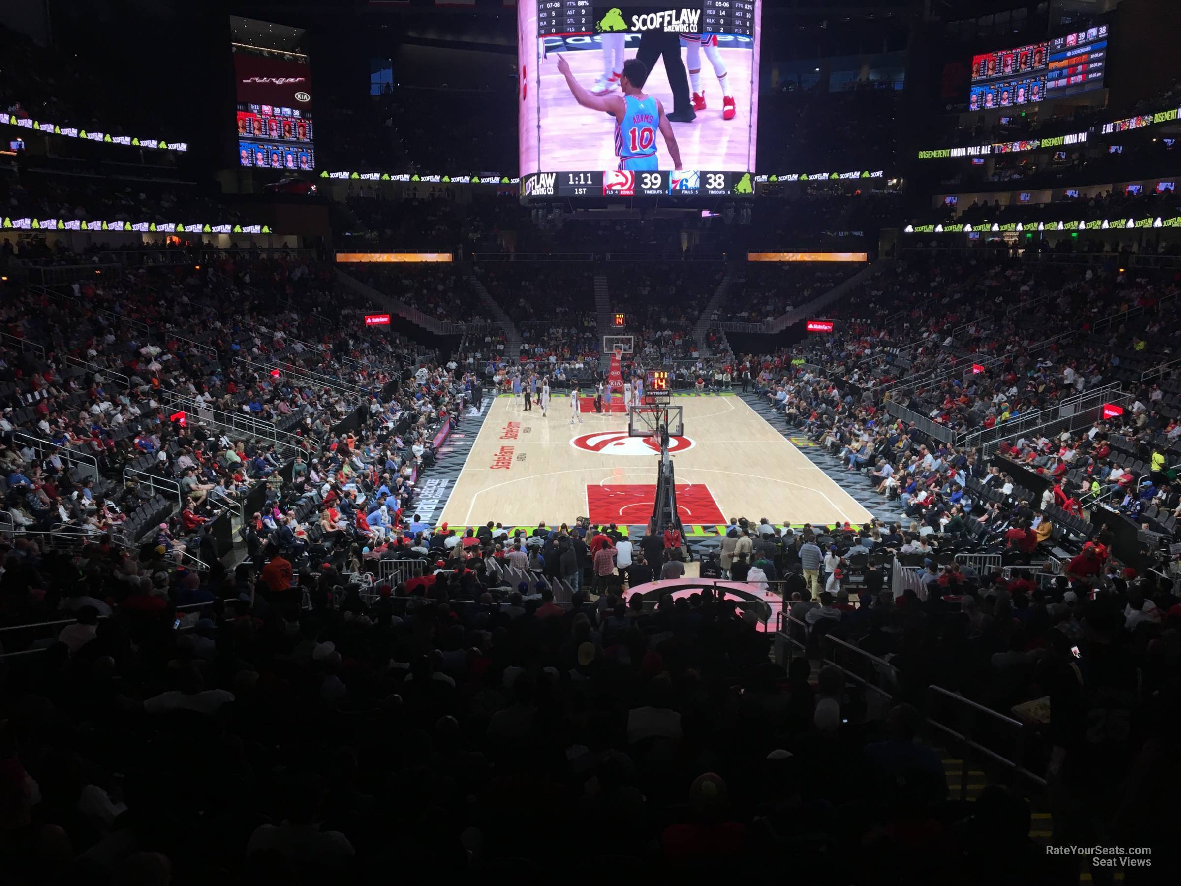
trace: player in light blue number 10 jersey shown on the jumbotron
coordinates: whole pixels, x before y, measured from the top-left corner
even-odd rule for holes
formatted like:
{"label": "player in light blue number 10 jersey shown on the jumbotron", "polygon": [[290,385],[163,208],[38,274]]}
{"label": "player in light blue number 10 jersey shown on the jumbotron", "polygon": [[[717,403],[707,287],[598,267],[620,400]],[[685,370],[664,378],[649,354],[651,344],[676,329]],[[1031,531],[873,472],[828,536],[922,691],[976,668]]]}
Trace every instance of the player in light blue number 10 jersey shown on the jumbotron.
{"label": "player in light blue number 10 jersey shown on the jumbotron", "polygon": [[658,129],[672,157],[672,168],[680,169],[680,148],[672,124],[665,116],[664,105],[660,99],[644,93],[648,69],[642,61],[633,58],[624,63],[624,73],[619,77],[622,96],[592,96],[574,79],[563,54],[557,57],[557,70],[566,78],[566,85],[570,87],[575,102],[592,111],[606,111],[615,118],[615,154],[619,156],[620,169],[660,169],[657,155]]}

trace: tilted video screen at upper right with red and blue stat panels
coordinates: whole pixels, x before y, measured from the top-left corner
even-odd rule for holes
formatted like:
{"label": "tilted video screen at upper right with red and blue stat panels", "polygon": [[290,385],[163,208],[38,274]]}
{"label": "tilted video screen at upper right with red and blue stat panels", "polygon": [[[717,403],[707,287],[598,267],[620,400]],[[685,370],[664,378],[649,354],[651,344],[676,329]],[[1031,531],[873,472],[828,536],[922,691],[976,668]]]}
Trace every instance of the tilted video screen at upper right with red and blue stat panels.
{"label": "tilted video screen at upper right with red and blue stat panels", "polygon": [[1108,26],[972,57],[968,109],[1013,108],[1103,86]]}

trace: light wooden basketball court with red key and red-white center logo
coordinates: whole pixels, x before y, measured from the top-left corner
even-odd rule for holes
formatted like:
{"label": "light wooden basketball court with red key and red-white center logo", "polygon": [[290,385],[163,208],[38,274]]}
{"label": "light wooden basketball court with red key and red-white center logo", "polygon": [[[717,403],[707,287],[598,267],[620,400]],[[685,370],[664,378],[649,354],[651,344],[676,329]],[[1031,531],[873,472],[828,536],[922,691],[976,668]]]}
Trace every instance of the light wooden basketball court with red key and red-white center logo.
{"label": "light wooden basketball court with red key and red-white center logo", "polygon": [[[615,404],[620,398],[615,397]],[[451,490],[442,521],[505,527],[595,522],[645,526],[652,516],[659,439],[631,436],[634,416],[586,411],[570,424],[566,392],[548,417],[511,395],[492,400]],[[730,517],[776,526],[868,522],[872,515],[775,428],[733,395],[673,396],[683,432],[670,424],[677,507],[686,534],[715,535]]]}

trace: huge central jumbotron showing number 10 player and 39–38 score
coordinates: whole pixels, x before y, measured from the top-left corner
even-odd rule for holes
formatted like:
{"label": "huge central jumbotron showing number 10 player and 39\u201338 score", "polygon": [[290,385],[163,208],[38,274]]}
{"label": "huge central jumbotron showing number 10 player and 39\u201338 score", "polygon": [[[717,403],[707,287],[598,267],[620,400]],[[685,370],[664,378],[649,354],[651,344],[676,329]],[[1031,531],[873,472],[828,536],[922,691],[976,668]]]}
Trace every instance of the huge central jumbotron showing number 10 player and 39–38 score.
{"label": "huge central jumbotron showing number 10 player and 39\u201338 score", "polygon": [[518,0],[521,194],[753,193],[762,0]]}

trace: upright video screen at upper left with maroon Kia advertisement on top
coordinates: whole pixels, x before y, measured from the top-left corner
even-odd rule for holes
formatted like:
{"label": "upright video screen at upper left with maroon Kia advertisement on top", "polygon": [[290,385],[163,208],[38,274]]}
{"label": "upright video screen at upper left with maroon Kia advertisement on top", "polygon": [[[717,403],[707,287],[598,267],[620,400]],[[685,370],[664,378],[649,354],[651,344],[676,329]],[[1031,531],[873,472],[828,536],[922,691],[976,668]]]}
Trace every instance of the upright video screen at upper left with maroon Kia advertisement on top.
{"label": "upright video screen at upper left with maroon Kia advertisement on top", "polygon": [[315,169],[312,70],[296,53],[256,54],[234,47],[237,150],[243,167]]}

